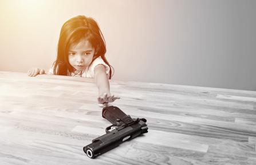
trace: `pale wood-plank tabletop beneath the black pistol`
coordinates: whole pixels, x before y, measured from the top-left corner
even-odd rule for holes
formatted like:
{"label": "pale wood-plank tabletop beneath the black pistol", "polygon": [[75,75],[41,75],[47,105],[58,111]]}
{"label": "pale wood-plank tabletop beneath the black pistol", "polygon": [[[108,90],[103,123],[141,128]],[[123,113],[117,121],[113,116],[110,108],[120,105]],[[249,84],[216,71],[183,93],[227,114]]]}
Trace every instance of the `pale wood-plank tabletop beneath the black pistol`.
{"label": "pale wood-plank tabletop beneath the black pistol", "polygon": [[256,164],[256,91],[110,83],[148,133],[90,159],[111,124],[93,79],[0,71],[0,164]]}

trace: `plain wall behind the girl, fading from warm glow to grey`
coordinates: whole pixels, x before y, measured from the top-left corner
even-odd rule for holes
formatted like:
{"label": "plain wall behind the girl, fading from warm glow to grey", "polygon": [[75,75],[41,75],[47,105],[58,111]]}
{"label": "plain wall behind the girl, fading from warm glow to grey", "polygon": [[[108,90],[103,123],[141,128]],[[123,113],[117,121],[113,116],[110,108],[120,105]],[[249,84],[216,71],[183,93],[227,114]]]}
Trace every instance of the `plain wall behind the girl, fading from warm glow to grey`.
{"label": "plain wall behind the girl, fading from warm glow to grey", "polygon": [[256,90],[256,1],[0,1],[0,70],[48,71],[61,26],[93,17],[113,79]]}

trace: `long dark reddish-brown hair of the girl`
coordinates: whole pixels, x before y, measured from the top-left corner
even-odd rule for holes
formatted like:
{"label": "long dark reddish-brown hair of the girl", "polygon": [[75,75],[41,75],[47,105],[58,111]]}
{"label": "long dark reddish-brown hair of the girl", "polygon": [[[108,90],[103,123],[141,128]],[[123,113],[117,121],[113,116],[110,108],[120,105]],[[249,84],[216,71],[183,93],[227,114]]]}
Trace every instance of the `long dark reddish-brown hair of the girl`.
{"label": "long dark reddish-brown hair of the girl", "polygon": [[[53,63],[53,73],[55,75],[68,75],[75,69],[68,60],[68,51],[70,45],[78,43],[81,39],[87,39],[94,47],[95,54],[92,62],[101,57],[109,66],[109,79],[112,77],[112,66],[105,58],[106,43],[101,33],[99,25],[93,18],[78,15],[66,21],[61,27],[60,38],[58,40],[57,59]],[[91,65],[92,63],[90,63]]]}

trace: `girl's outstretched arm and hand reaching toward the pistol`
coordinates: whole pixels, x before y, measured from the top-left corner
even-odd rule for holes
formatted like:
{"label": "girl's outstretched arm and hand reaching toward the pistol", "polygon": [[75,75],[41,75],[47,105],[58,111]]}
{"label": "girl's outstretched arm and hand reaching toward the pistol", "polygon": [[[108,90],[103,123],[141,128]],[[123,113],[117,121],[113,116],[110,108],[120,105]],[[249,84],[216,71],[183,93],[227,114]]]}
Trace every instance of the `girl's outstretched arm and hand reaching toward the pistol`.
{"label": "girl's outstretched arm and hand reaching toward the pistol", "polygon": [[106,74],[106,69],[104,65],[97,65],[94,68],[94,79],[96,86],[99,89],[99,103],[102,104],[105,102],[113,102],[116,99],[120,99],[119,97],[111,95],[110,93],[108,76]]}

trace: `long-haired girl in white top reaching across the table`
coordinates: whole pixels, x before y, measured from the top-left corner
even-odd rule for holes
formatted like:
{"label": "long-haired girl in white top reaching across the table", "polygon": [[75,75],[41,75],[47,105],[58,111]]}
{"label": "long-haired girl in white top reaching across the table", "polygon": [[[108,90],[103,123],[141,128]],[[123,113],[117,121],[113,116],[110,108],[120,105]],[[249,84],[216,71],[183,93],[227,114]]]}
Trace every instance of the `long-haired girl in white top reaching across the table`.
{"label": "long-haired girl in white top reaching across the table", "polygon": [[[78,15],[64,23],[58,41],[57,59],[48,74],[94,78],[99,89],[98,102],[120,99],[111,95],[108,78],[111,65],[105,58],[105,39],[93,18]],[[27,75],[45,74],[43,69],[30,69]]]}

